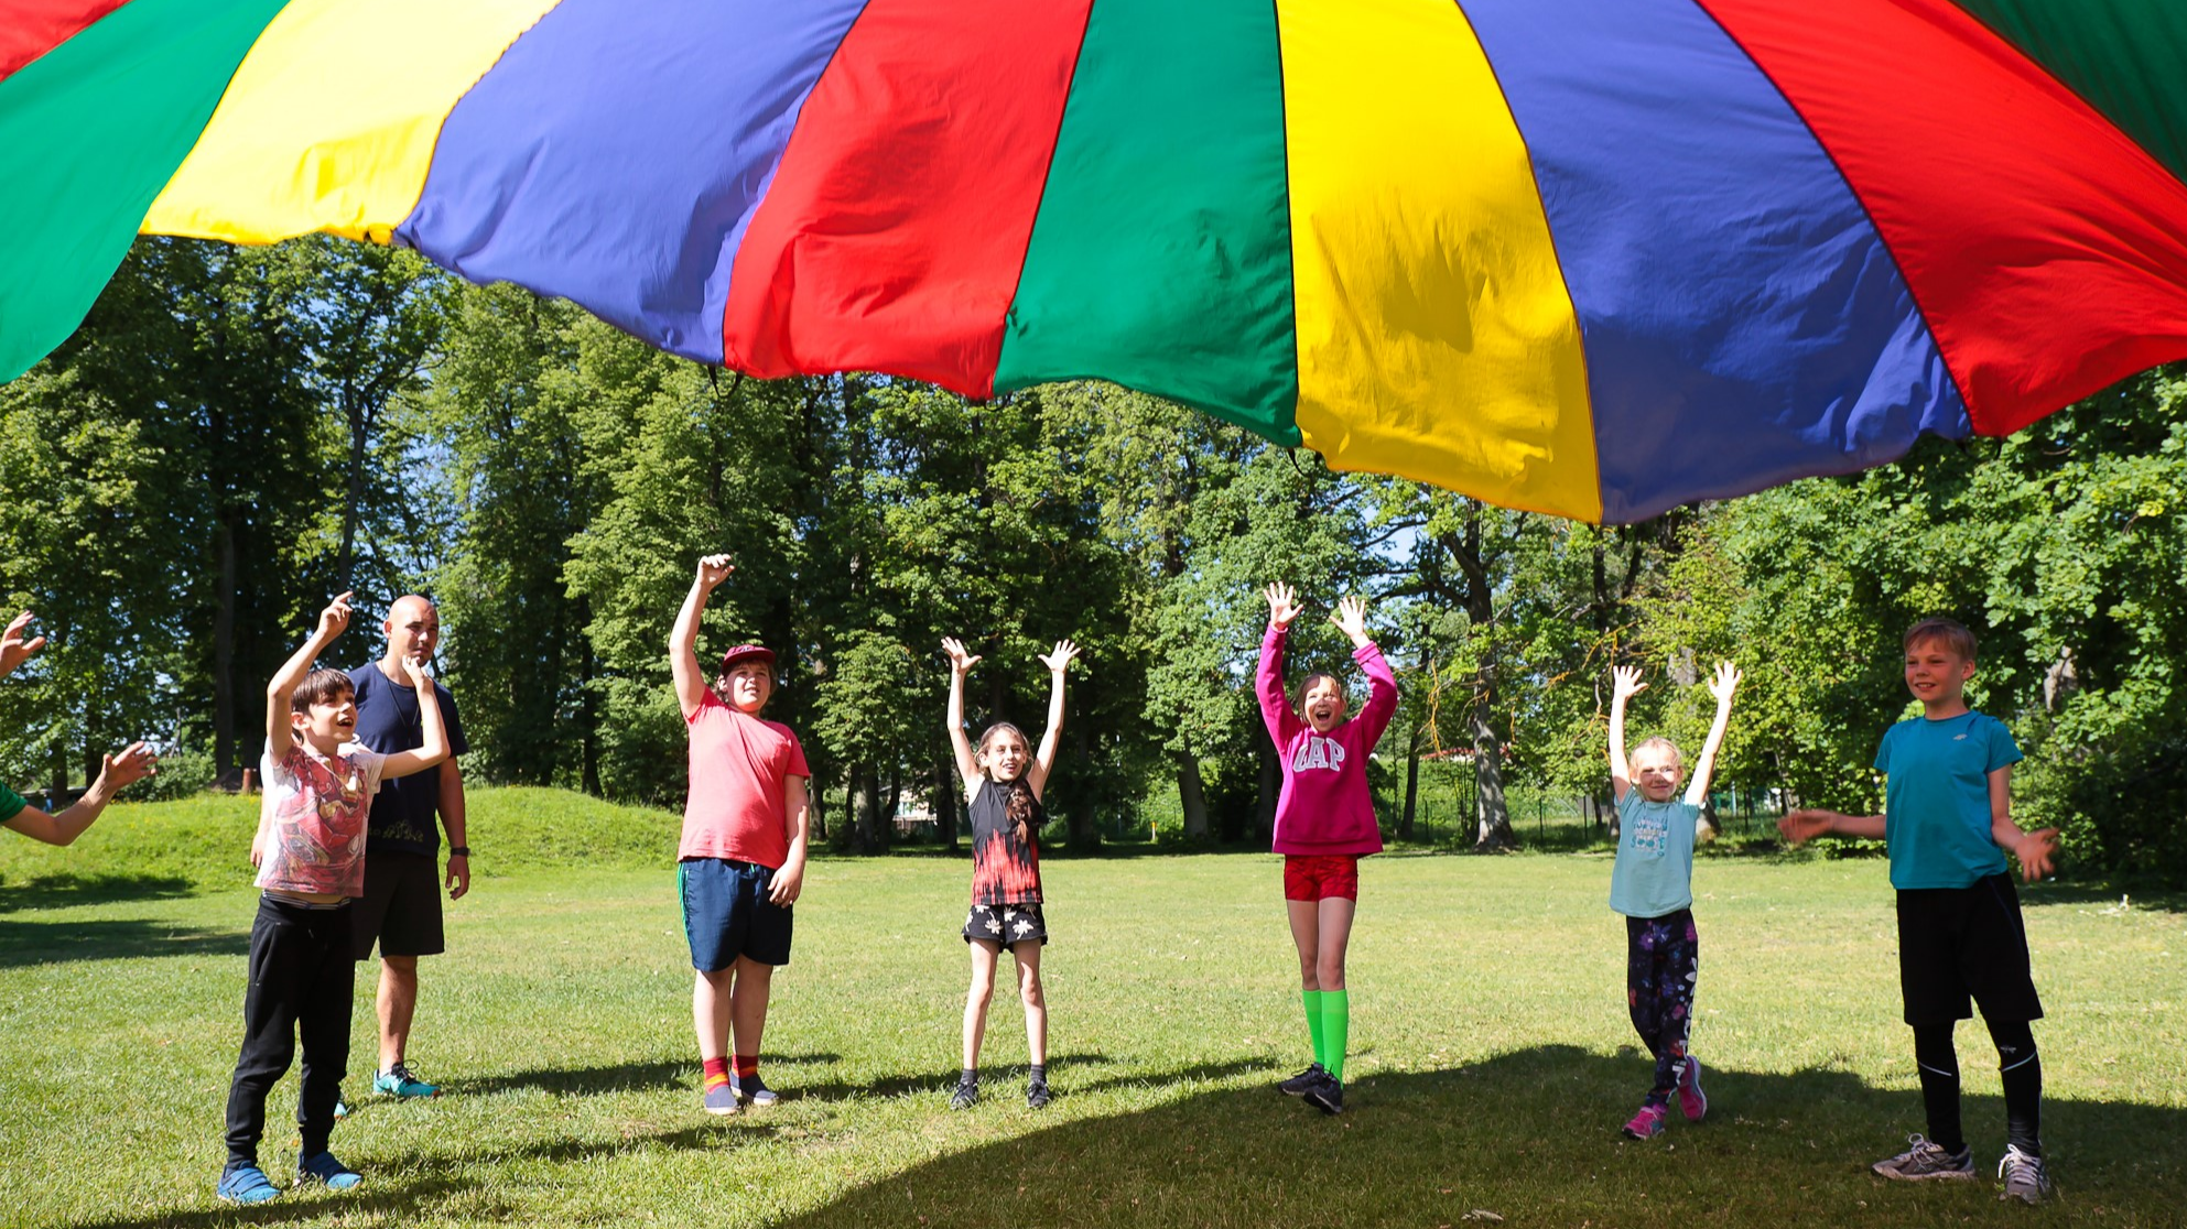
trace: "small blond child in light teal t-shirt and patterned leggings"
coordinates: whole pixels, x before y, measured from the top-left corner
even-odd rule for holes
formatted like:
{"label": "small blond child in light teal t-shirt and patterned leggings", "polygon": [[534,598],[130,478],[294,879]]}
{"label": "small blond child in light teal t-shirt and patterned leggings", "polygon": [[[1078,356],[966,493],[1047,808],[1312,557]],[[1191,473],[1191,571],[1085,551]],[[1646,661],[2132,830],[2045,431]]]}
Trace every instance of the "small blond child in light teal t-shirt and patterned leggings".
{"label": "small blond child in light teal t-shirt and patterned leggings", "polygon": [[1717,719],[1708,726],[1693,783],[1677,798],[1684,776],[1671,739],[1640,744],[1625,759],[1625,702],[1647,691],[1640,671],[1616,667],[1610,700],[1610,792],[1618,803],[1618,859],[1610,868],[1610,908],[1625,914],[1625,1002],[1634,1028],[1656,1056],[1656,1082],[1640,1100],[1640,1113],[1625,1135],[1649,1139],[1671,1117],[1671,1093],[1691,1122],[1708,1113],[1701,1093],[1701,1063],[1686,1052],[1693,1030],[1693,986],[1699,975],[1701,934],[1693,925],[1693,833],[1708,796],[1708,774],[1732,722],[1732,691],[1739,669],[1717,665],[1708,693],[1717,698]]}

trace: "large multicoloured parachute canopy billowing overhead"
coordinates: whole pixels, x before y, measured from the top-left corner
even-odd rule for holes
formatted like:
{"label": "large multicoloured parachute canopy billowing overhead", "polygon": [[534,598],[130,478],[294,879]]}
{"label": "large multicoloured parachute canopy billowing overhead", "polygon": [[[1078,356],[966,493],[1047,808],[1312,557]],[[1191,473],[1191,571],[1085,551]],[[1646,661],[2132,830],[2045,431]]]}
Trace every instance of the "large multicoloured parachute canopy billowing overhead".
{"label": "large multicoloured parachute canopy billowing overhead", "polygon": [[0,0],[0,376],[328,230],[1581,520],[2187,356],[2178,0]]}

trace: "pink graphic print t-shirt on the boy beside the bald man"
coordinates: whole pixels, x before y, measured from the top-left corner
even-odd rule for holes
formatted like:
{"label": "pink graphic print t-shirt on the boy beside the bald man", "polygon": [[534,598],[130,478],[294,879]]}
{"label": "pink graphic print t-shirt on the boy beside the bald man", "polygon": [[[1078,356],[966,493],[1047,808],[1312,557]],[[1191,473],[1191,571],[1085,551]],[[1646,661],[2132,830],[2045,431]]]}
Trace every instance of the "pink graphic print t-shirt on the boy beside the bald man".
{"label": "pink graphic print t-shirt on the boy beside the bald man", "polygon": [[387,757],[361,744],[343,744],[330,757],[315,754],[302,741],[291,744],[280,761],[260,754],[258,772],[267,789],[260,805],[273,822],[258,864],[258,886],[315,897],[363,897],[365,820],[385,761]]}

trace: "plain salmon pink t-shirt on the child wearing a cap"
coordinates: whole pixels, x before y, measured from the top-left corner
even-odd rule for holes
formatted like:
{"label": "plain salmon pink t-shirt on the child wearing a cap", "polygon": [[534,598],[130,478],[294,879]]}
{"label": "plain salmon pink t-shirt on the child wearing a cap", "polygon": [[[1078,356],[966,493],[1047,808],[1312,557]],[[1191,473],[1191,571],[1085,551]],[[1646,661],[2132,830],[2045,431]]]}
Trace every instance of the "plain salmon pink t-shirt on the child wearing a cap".
{"label": "plain salmon pink t-shirt on the child wearing a cap", "polygon": [[783,785],[811,774],[790,726],[739,713],[709,689],[691,713],[691,794],[676,857],[781,868],[790,859]]}

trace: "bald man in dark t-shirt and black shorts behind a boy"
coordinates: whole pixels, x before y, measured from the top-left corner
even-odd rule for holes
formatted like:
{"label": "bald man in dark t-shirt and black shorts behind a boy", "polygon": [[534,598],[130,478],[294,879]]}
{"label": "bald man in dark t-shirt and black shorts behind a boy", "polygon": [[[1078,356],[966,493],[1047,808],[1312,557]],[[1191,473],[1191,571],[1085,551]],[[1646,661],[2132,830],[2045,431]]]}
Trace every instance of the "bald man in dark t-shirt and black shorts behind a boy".
{"label": "bald man in dark t-shirt and black shorts behind a boy", "polygon": [[[356,684],[356,741],[391,754],[424,744],[418,693],[405,682],[402,660],[426,665],[440,647],[440,612],[416,593],[398,597],[381,623],[387,654],[350,671]],[[455,698],[437,680],[433,695],[448,728],[451,754],[413,776],[387,781],[372,803],[365,844],[365,897],[356,903],[356,958],[372,960],[381,947],[381,1063],[372,1091],[394,1098],[429,1098],[440,1087],[411,1074],[411,1017],[418,1013],[418,958],[446,951],[440,925],[440,890],[459,901],[470,890],[470,846],[464,844],[464,772],[455,757],[470,750]],[[437,818],[437,827],[435,827]],[[440,868],[440,829],[448,829],[448,870]]]}

